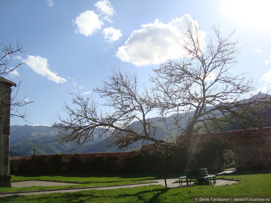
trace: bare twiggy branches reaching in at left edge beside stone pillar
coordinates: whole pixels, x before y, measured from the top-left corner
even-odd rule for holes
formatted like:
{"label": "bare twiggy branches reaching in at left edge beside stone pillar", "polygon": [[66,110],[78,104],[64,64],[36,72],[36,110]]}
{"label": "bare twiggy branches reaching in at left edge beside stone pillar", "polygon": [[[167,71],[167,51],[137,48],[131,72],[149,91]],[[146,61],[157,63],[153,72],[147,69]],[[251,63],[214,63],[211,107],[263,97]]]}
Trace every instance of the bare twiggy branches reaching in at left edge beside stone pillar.
{"label": "bare twiggy branches reaching in at left edge beside stone pillar", "polygon": [[[10,66],[10,62],[12,61],[12,58],[14,57],[14,55],[18,55],[19,53],[23,53],[25,51],[23,51],[23,47],[21,46],[21,44],[19,42],[17,42],[16,46],[13,47],[12,44],[0,44],[0,48],[1,48],[1,56],[0,56],[0,77],[1,77],[1,81],[4,80],[4,78],[10,74],[11,72],[16,71],[15,69],[19,66],[21,66],[22,64],[24,64],[25,62],[21,61],[20,63],[18,63],[15,67],[9,67]],[[9,98],[9,96],[6,96],[5,93],[1,94],[1,99],[0,99],[0,106],[4,106],[6,104],[10,104],[11,107],[11,113],[7,113],[7,112],[0,112],[0,117],[2,118],[2,116],[7,116],[10,115],[11,117],[16,116],[16,117],[20,117],[23,118],[24,120],[26,120],[26,112],[21,112],[18,111],[18,107],[21,108],[23,106],[25,106],[26,104],[30,104],[33,101],[28,101],[26,100],[26,97],[24,97],[23,99],[18,99],[17,98],[17,93],[20,87],[21,81],[19,83],[17,83],[17,85],[12,86],[12,96],[11,98]]]}

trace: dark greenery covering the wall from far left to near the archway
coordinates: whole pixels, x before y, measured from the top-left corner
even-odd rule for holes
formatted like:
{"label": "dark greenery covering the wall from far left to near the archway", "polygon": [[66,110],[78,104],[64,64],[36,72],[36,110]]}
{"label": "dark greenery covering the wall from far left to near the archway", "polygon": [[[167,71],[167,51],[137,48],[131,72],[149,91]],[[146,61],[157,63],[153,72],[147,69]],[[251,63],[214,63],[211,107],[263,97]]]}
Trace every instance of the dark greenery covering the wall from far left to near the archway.
{"label": "dark greenery covering the wall from far left to near the archway", "polygon": [[[193,156],[200,167],[216,168],[216,147],[204,147],[194,151]],[[137,151],[133,156],[106,156],[114,153],[73,155],[36,155],[32,159],[11,160],[12,173],[150,173],[163,172],[162,156],[153,151]],[[121,153],[119,153],[122,155]],[[204,154],[204,159],[202,155]],[[95,156],[94,156],[95,155]],[[185,173],[188,161],[184,149],[175,149],[164,156],[168,173]],[[214,167],[215,166],[215,167]]]}

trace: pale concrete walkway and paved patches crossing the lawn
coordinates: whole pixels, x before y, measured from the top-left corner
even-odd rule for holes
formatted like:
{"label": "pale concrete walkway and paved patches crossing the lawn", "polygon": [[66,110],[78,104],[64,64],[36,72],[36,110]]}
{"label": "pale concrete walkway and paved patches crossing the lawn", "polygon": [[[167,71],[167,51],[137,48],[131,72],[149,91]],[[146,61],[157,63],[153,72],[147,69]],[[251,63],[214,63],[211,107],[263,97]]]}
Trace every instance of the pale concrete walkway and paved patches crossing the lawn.
{"label": "pale concrete walkway and paved patches crossing the lawn", "polygon": [[[167,178],[167,187],[180,187],[179,183],[174,183],[178,181],[178,178]],[[238,182],[237,180],[231,179],[216,179],[215,186],[230,185],[232,183]],[[12,182],[12,187],[30,187],[30,186],[63,186],[63,185],[78,185],[74,183],[63,183],[63,182],[49,182],[49,181],[21,181]],[[40,194],[50,194],[55,192],[76,192],[83,190],[104,190],[104,189],[117,189],[117,188],[127,188],[127,187],[140,187],[145,185],[162,185],[165,186],[164,179],[153,180],[144,183],[134,183],[126,185],[114,185],[114,186],[101,186],[101,187],[78,187],[78,188],[64,188],[64,189],[51,189],[51,190],[38,190],[38,191],[19,191],[19,192],[0,192],[0,197],[12,196],[12,195],[40,195]],[[186,183],[183,183],[186,187]]]}

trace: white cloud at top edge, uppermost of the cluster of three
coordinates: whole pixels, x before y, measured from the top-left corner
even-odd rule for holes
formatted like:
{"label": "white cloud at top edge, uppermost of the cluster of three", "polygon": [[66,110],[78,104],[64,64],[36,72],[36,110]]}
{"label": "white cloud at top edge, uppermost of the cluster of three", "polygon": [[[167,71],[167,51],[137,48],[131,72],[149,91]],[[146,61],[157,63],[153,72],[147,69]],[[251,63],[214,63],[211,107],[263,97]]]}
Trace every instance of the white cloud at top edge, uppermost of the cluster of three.
{"label": "white cloud at top edge, uppermost of the cluster of three", "polygon": [[100,13],[99,16],[101,16],[103,20],[113,22],[110,17],[114,15],[115,11],[108,0],[98,1],[94,6],[97,8]]}

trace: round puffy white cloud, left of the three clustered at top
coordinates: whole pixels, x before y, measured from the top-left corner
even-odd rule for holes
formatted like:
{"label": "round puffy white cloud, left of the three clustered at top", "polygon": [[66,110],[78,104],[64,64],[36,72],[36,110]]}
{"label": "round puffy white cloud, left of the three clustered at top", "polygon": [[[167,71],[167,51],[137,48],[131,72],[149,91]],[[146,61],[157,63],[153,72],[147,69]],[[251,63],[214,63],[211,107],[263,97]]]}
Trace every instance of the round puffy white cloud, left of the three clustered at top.
{"label": "round puffy white cloud, left of the three clustered at top", "polygon": [[94,32],[102,29],[103,21],[99,19],[94,11],[86,11],[76,17],[76,33],[92,36]]}

